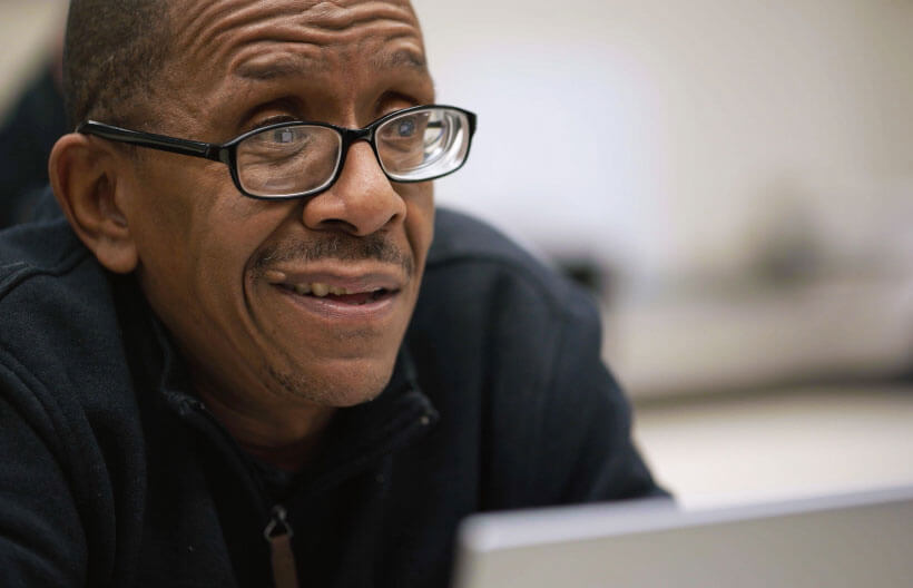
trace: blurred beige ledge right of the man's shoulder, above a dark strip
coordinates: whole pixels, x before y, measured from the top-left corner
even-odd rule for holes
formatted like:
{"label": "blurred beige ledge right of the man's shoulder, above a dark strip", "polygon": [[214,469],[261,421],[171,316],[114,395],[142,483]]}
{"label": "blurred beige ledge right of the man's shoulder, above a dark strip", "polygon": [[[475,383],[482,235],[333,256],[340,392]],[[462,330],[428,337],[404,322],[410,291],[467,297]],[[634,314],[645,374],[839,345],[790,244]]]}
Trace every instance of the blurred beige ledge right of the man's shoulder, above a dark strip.
{"label": "blurred beige ledge right of the man's shoulder, above a dark strip", "polygon": [[603,356],[636,399],[892,376],[913,367],[913,278],[622,298],[603,324]]}

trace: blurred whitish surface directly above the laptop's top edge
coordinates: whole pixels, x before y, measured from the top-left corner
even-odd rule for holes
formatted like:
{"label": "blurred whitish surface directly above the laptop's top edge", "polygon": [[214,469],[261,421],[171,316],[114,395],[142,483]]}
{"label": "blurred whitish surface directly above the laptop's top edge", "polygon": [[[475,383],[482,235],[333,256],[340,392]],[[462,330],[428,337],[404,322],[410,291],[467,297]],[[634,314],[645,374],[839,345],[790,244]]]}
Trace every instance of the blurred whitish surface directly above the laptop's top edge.
{"label": "blurred whitish surface directly above the laptop's top edge", "polygon": [[913,384],[638,403],[635,437],[685,508],[913,484]]}

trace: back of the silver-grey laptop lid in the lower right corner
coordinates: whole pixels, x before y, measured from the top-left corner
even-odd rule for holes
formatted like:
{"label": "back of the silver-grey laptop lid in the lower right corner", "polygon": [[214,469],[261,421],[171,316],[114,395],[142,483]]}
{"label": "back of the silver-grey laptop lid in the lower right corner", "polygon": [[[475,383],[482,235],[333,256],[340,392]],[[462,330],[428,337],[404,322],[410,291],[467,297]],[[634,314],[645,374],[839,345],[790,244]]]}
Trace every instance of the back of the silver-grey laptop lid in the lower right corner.
{"label": "back of the silver-grey laptop lid in the lower right corner", "polygon": [[452,588],[913,587],[913,487],[719,510],[669,501],[477,514]]}

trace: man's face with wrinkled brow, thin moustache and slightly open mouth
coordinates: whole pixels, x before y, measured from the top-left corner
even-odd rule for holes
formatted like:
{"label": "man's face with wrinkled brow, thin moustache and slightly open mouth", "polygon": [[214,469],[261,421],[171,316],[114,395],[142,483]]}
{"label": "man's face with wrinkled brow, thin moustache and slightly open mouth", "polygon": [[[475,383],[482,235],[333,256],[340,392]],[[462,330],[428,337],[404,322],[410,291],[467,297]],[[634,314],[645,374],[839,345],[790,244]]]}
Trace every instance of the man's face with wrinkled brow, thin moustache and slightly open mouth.
{"label": "man's face with wrinkled brow, thin moustache and slightly open mouth", "polygon": [[[222,143],[284,120],[360,128],[434,101],[405,0],[176,4],[146,130]],[[197,385],[252,411],[383,390],[431,244],[429,183],[392,184],[364,141],[332,188],[283,202],[242,196],[219,163],[141,150],[125,165],[137,275]]]}

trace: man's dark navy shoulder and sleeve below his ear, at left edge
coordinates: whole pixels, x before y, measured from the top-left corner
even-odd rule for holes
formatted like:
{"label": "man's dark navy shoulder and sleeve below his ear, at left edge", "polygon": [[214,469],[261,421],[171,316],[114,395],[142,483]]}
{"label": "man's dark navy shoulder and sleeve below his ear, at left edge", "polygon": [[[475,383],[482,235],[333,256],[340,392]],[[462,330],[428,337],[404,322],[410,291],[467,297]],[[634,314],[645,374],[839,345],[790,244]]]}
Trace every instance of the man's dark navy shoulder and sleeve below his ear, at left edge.
{"label": "man's dark navy shoulder and sleeve below his ear, at left edge", "polygon": [[109,281],[66,220],[0,232],[0,488],[42,490],[4,494],[0,535],[52,530],[9,558],[75,576],[52,584],[97,585],[135,537],[144,440],[124,349]]}

